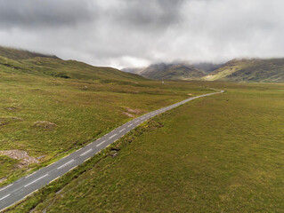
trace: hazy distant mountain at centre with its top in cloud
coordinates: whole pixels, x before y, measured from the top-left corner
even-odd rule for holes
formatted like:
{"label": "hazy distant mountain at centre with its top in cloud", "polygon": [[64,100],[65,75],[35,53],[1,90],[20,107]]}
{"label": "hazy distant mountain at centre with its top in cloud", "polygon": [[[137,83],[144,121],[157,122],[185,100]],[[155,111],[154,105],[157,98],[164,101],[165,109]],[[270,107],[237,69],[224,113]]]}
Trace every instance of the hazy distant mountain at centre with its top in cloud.
{"label": "hazy distant mountain at centre with its top in cloud", "polygon": [[186,63],[159,63],[146,68],[127,68],[124,70],[154,80],[192,80],[206,75],[205,72]]}

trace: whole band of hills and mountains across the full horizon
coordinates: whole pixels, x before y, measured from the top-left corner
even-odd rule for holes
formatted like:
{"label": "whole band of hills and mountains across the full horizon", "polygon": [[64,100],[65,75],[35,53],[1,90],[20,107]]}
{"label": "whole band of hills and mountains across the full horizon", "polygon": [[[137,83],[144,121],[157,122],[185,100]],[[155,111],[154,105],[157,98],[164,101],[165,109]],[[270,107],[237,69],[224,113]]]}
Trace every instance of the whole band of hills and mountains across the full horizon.
{"label": "whole band of hills and mountains across the full horizon", "polygon": [[154,80],[284,82],[284,59],[232,59],[223,65],[159,63],[144,68],[124,68],[125,72],[121,72],[112,67],[93,67],[75,60],[62,60],[54,55],[0,46],[0,71],[5,69],[6,72],[93,79],[101,83],[146,80],[143,77]]}

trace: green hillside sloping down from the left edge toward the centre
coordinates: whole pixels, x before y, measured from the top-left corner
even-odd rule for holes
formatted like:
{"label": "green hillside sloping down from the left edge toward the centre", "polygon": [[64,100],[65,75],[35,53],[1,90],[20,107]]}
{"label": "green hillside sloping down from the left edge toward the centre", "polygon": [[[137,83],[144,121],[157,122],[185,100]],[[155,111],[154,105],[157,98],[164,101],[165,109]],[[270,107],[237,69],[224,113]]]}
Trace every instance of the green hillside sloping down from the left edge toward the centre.
{"label": "green hillside sloping down from the left edge toward the centre", "polygon": [[107,83],[146,80],[140,75],[127,74],[112,67],[93,67],[76,60],[62,60],[56,56],[4,47],[0,47],[0,68],[13,74],[49,75]]}

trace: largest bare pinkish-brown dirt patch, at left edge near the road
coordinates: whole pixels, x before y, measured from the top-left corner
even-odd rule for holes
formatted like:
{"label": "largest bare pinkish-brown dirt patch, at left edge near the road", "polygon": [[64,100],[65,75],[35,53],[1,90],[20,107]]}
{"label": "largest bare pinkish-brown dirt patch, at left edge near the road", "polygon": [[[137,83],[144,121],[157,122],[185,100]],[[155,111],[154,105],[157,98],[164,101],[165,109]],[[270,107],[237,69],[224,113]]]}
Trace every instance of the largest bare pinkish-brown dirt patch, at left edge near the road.
{"label": "largest bare pinkish-brown dirt patch, at left edge near the road", "polygon": [[18,165],[20,168],[28,166],[31,163],[38,163],[36,158],[29,156],[25,151],[17,149],[0,151],[0,155],[5,155],[12,159],[20,160],[20,164]]}

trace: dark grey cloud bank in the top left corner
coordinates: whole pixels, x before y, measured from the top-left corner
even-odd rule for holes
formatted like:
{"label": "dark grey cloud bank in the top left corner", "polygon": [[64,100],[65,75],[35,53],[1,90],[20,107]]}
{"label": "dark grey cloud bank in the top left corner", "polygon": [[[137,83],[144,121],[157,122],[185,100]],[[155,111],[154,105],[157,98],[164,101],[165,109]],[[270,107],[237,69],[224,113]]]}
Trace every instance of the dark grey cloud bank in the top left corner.
{"label": "dark grey cloud bank in the top left corner", "polygon": [[1,28],[56,28],[93,20],[86,0],[0,0]]}

